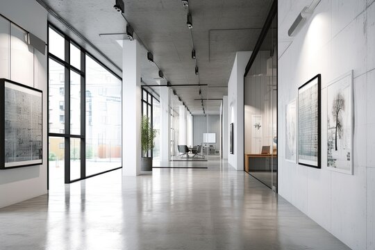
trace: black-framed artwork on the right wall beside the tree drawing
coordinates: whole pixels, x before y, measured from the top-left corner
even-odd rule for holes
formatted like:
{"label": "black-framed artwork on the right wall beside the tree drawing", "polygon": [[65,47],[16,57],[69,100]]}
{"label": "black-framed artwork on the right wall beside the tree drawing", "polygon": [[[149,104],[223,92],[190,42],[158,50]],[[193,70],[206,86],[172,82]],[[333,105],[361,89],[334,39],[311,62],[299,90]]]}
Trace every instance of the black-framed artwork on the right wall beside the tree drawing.
{"label": "black-framed artwork on the right wall beside the tree drawing", "polygon": [[298,163],[321,167],[321,75],[298,89]]}

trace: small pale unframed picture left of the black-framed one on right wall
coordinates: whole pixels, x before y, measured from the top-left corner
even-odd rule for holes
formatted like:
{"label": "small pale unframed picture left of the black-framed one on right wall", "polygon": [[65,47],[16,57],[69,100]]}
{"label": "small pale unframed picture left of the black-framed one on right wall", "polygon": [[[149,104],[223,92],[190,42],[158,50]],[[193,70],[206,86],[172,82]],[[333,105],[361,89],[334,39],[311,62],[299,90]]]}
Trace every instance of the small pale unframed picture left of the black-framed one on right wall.
{"label": "small pale unframed picture left of the black-framed one on right wall", "polygon": [[290,101],[285,110],[285,160],[297,161],[297,103]]}

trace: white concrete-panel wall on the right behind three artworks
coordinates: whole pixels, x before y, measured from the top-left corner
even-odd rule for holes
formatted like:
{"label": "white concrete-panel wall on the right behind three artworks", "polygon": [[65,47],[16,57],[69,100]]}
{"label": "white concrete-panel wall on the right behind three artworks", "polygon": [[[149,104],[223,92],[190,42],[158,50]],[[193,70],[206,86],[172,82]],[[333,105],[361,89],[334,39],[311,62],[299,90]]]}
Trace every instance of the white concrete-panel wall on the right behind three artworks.
{"label": "white concrete-panel wall on the right behind three artworks", "polygon": [[[352,249],[375,249],[375,3],[322,0],[308,22],[288,28],[310,1],[278,1],[278,192]],[[353,69],[354,175],[326,167],[326,85]],[[285,161],[285,106],[322,74],[322,169]]]}

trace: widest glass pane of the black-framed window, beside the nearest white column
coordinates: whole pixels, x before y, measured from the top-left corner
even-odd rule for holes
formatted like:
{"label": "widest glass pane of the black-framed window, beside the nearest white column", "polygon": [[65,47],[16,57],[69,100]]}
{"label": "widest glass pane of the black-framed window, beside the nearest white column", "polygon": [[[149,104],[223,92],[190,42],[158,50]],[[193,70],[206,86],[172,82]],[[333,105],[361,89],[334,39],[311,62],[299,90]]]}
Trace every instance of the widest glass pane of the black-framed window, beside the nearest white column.
{"label": "widest glass pane of the black-framed window, beside the nearest white column", "polygon": [[121,166],[122,82],[86,55],[86,175]]}

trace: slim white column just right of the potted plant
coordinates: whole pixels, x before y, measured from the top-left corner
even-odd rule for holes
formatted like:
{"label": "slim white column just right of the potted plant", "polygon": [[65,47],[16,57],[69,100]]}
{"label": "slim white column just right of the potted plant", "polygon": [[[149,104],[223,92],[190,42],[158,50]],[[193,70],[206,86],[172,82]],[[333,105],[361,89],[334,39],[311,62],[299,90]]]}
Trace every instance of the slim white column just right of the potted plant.
{"label": "slim white column just right of the potted plant", "polygon": [[170,108],[169,88],[160,88],[160,161],[169,161],[170,156]]}

